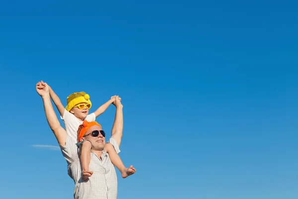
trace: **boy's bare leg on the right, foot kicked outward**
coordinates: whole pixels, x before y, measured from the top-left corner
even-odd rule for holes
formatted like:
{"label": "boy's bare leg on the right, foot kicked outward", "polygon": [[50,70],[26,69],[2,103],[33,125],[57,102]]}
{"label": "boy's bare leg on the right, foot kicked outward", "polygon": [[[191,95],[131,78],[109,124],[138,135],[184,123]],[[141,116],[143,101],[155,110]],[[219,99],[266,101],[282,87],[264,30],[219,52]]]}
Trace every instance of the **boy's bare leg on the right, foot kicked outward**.
{"label": "boy's bare leg on the right, foot kicked outward", "polygon": [[109,157],[111,159],[111,162],[113,165],[117,167],[117,169],[121,172],[122,178],[126,178],[136,172],[136,169],[133,168],[131,165],[129,168],[126,168],[118,155],[118,153],[115,151],[114,147],[110,143],[106,143],[104,149],[108,152]]}

